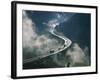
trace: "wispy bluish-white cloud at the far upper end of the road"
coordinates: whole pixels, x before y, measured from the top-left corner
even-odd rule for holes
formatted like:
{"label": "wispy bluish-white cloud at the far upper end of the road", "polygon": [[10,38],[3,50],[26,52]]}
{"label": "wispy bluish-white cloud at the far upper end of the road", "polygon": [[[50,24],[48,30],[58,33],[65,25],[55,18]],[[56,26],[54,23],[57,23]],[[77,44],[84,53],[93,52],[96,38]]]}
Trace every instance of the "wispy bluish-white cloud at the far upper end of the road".
{"label": "wispy bluish-white cloud at the far upper end of the road", "polygon": [[55,28],[56,26],[60,25],[68,21],[75,13],[55,13],[55,17],[49,20],[47,23],[43,22],[43,24],[47,25],[49,29]]}

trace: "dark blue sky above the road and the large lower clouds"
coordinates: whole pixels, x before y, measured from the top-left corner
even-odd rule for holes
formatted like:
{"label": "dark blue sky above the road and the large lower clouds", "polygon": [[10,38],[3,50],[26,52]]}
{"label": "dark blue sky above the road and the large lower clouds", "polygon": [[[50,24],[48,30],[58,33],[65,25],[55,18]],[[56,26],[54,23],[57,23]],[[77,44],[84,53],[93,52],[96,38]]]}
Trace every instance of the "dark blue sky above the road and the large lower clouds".
{"label": "dark blue sky above the road and the large lower clouds", "polygon": [[[26,11],[28,17],[37,25],[37,32],[41,33],[47,29],[43,23],[58,20],[57,30],[69,37],[72,41],[80,41],[90,46],[90,14]],[[65,20],[65,21],[64,21]]]}

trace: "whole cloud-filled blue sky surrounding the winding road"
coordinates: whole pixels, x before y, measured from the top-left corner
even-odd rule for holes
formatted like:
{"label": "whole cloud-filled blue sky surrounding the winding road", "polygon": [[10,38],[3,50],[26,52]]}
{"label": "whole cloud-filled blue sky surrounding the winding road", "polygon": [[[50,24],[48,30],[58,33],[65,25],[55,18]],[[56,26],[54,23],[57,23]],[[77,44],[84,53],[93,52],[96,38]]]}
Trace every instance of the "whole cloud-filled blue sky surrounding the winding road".
{"label": "whole cloud-filled blue sky surrounding the winding road", "polygon": [[[85,13],[23,10],[23,62],[25,60],[29,62],[28,58],[35,59],[47,55],[48,51],[55,50],[63,44],[62,40],[49,32],[51,26],[56,25],[56,31],[69,38],[72,41],[72,46],[59,53],[60,57],[58,55],[52,56],[53,63],[49,66],[63,67],[69,62],[71,66],[76,66],[75,63],[81,62],[80,65],[90,65],[90,19],[90,14]],[[65,55],[70,56],[70,59],[66,60]],[[42,60],[43,64],[44,61],[49,61],[48,58]],[[87,61],[87,64],[84,64],[84,61]],[[47,62],[45,62],[45,66],[34,63],[33,65],[36,67],[32,67],[32,63],[24,64],[24,68],[49,67],[45,65]]]}

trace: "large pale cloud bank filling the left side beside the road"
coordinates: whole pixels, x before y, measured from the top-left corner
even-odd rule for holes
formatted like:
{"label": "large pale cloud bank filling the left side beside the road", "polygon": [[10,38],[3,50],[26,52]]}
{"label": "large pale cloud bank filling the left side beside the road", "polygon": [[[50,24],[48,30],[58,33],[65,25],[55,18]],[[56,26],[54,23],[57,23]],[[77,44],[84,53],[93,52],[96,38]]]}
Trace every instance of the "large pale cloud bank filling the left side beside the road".
{"label": "large pale cloud bank filling the left side beside the road", "polygon": [[24,59],[28,58],[30,54],[31,57],[34,57],[33,54],[37,57],[47,55],[50,50],[61,46],[57,39],[50,38],[47,34],[38,34],[36,28],[37,26],[28,17],[26,11],[23,11],[23,48],[28,51],[24,53]]}

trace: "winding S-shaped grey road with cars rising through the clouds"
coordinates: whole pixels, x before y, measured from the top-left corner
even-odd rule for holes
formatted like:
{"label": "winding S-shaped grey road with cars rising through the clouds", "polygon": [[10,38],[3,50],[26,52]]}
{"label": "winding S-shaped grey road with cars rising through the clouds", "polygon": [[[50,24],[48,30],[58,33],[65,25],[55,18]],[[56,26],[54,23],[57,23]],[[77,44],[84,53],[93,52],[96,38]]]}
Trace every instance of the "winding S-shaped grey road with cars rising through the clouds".
{"label": "winding S-shaped grey road with cars rising through the clouds", "polygon": [[64,40],[64,44],[61,46],[60,49],[56,49],[54,51],[51,51],[51,53],[48,53],[48,54],[45,54],[45,55],[40,55],[36,58],[30,58],[30,59],[26,59],[23,61],[23,63],[28,63],[28,62],[32,62],[32,61],[35,61],[35,60],[38,60],[38,59],[42,59],[42,58],[45,58],[45,57],[48,57],[48,56],[51,56],[51,55],[54,55],[54,54],[57,54],[57,53],[60,53],[61,51],[67,49],[71,44],[72,44],[72,41],[70,39],[68,39],[67,37],[64,37],[64,36],[61,36],[61,35],[57,35],[54,30],[55,30],[56,26],[52,27],[50,29],[50,33],[62,40]]}

